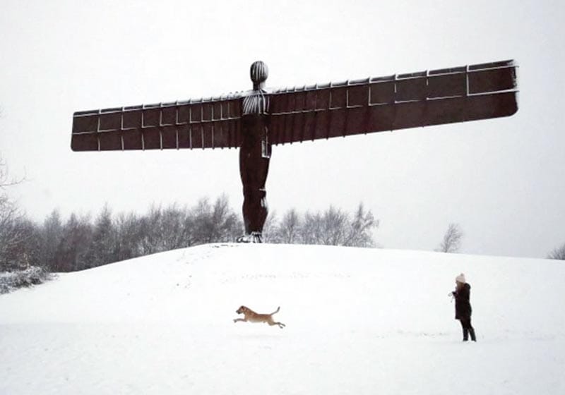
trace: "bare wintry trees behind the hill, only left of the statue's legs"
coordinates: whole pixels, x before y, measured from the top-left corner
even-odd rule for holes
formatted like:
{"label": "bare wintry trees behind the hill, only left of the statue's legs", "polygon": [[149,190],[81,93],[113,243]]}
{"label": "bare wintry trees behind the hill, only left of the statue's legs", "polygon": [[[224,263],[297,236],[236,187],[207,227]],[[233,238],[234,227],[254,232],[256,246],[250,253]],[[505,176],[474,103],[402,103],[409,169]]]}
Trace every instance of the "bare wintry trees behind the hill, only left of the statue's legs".
{"label": "bare wintry trees behind the hill, only left of the statue's legs", "polygon": [[[54,210],[42,224],[13,218],[18,237],[0,251],[0,272],[44,267],[72,272],[203,243],[234,241],[242,234],[227,198],[202,199],[194,207],[153,206],[145,214],[112,214],[108,205],[94,218]],[[0,235],[1,238],[1,235]],[[1,243],[1,240],[0,240]]]}

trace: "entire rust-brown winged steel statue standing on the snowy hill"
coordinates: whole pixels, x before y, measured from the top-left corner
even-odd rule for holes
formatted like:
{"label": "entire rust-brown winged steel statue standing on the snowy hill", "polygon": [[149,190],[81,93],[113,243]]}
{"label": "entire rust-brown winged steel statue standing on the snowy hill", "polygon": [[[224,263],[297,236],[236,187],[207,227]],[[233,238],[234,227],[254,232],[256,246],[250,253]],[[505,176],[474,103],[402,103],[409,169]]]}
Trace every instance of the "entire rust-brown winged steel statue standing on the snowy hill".
{"label": "entire rust-brown winged steel statue standing on the snowy hill", "polygon": [[237,148],[242,240],[261,242],[268,210],[271,145],[476,121],[518,111],[516,64],[497,61],[343,83],[266,90],[265,63],[251,65],[253,90],[208,99],[78,111],[74,151]]}

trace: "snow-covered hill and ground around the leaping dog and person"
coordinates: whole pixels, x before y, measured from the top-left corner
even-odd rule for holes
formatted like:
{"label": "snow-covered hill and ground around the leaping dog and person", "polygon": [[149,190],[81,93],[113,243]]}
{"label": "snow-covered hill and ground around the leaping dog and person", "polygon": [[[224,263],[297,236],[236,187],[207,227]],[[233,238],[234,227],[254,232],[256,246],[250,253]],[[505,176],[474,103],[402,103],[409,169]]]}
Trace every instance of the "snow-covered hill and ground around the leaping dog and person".
{"label": "snow-covered hill and ground around the leaping dog and person", "polygon": [[[564,282],[553,260],[175,250],[0,296],[0,394],[565,394]],[[234,324],[239,305],[287,327]]]}

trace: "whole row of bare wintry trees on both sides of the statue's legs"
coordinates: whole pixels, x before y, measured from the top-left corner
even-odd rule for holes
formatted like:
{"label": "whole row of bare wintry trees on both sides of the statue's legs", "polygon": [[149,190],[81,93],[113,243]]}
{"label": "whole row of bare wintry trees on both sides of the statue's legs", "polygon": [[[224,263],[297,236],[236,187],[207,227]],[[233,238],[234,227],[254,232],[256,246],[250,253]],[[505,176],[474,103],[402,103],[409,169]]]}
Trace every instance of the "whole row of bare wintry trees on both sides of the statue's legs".
{"label": "whole row of bare wintry trees on both sides of the statue's legs", "polygon": [[[369,247],[378,223],[363,205],[351,214],[334,207],[305,214],[290,209],[280,219],[271,215],[264,234],[268,243]],[[177,248],[233,242],[244,232],[241,214],[224,195],[191,207],[153,205],[145,214],[114,214],[105,205],[95,217],[73,213],[64,219],[54,210],[42,224],[18,214],[10,224],[11,242],[0,250],[0,272],[28,267],[73,272]]]}

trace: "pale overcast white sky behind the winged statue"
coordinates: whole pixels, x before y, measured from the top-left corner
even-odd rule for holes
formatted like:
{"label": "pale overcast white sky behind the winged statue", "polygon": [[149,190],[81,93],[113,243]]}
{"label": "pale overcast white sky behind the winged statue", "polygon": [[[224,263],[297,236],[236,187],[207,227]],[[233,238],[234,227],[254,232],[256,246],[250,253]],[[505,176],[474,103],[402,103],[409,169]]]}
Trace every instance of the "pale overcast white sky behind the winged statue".
{"label": "pale overcast white sky behind the winged statue", "polygon": [[[425,3],[425,5],[424,5]],[[158,5],[157,5],[158,4]],[[0,13],[0,152],[30,217],[145,212],[226,193],[237,150],[71,152],[74,111],[516,59],[509,118],[273,147],[270,211],[364,202],[385,248],[545,257],[565,243],[561,1],[12,1]]]}

